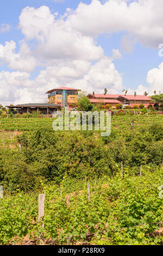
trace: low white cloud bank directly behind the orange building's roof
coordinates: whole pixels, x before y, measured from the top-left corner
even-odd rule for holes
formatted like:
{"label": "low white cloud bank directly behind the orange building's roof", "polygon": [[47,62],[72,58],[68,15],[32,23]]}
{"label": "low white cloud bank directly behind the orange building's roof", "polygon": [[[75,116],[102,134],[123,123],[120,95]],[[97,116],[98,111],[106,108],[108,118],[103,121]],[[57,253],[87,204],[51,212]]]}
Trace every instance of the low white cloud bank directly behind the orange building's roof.
{"label": "low white cloud bank directly behind the orange building's roof", "polygon": [[[86,92],[110,93],[122,90],[122,76],[115,69],[112,57],[103,57],[91,65],[85,60],[65,60],[41,70],[35,80],[27,72],[0,73],[0,101],[2,104],[46,102],[47,90],[61,86],[74,87]],[[11,103],[10,102],[10,103]]]}

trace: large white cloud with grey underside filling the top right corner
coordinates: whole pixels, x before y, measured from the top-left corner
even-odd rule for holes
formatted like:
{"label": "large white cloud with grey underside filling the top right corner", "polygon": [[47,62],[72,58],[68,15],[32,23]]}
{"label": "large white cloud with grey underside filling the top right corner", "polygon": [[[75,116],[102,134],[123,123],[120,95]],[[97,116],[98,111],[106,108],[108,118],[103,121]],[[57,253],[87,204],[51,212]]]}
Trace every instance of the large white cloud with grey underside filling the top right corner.
{"label": "large white cloud with grey underside filling the top right corner", "polygon": [[80,3],[68,16],[67,22],[83,35],[96,37],[103,33],[127,31],[144,46],[158,47],[163,41],[162,0],[126,2],[110,0],[102,4],[92,0],[89,5]]}

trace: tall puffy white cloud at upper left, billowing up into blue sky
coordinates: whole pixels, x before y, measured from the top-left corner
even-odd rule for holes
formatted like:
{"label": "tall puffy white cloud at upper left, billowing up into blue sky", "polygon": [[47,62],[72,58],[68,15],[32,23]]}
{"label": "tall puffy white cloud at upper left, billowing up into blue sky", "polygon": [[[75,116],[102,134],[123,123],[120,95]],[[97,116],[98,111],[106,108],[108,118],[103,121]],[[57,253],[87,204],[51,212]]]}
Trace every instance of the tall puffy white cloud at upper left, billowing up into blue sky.
{"label": "tall puffy white cloud at upper left, billowing up into blue sky", "polygon": [[55,20],[48,7],[26,7],[20,15],[19,27],[27,40],[36,39],[34,50],[41,60],[83,59],[99,60],[104,51],[90,36],[75,31],[62,17]]}

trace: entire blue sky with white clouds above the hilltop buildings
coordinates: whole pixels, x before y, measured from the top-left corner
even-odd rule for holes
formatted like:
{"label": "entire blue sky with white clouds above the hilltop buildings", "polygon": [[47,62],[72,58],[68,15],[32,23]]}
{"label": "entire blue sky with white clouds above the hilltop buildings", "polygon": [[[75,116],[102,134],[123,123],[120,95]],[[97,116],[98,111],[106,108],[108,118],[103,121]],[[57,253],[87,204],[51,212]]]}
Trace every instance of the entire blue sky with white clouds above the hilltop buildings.
{"label": "entire blue sky with white clouds above the hilltop buildings", "polygon": [[0,103],[46,102],[62,86],[162,92],[162,14],[162,0],[1,1]]}

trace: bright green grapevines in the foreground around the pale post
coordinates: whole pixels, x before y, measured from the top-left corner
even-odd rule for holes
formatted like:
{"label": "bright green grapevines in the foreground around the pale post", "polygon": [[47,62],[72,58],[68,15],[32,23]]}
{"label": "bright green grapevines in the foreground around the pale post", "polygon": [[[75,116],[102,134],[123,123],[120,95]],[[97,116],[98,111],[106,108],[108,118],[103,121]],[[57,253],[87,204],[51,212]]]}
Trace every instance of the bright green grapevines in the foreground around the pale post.
{"label": "bright green grapevines in the foreground around the pale post", "polygon": [[[163,169],[142,169],[142,176],[90,179],[87,181],[65,174],[60,186],[42,185],[32,193],[17,191],[0,199],[0,244],[20,244],[24,236],[40,243],[40,233],[55,245],[76,245],[90,241],[93,245],[160,245],[162,237],[155,230],[162,220],[162,199],[158,187]],[[38,194],[46,193],[45,216],[38,222]]]}

